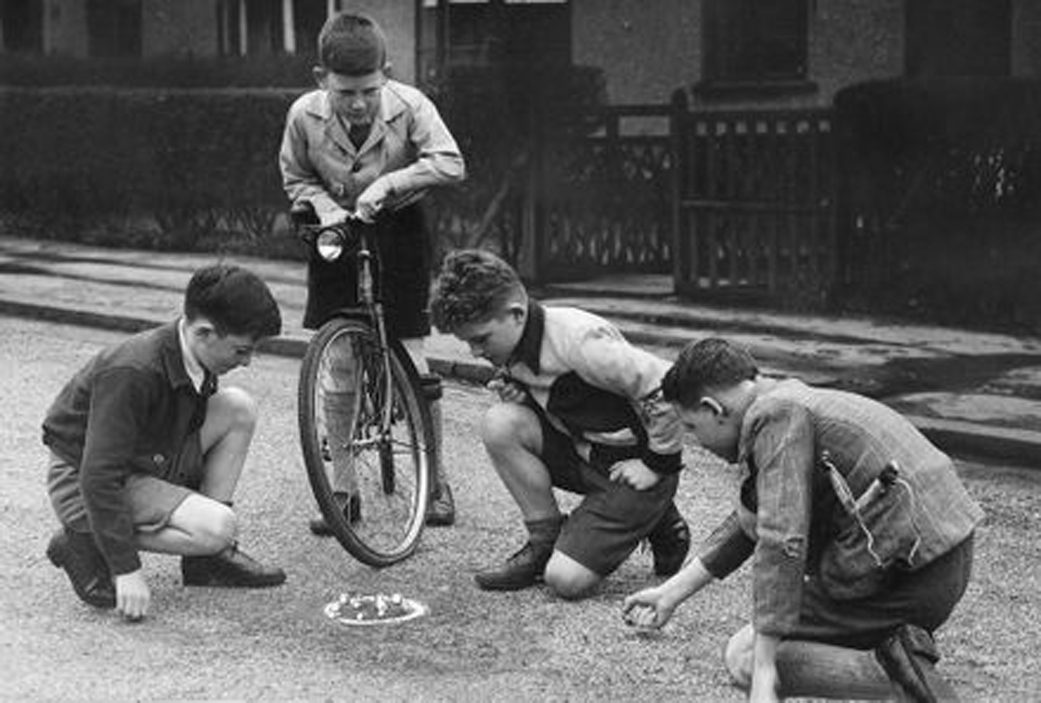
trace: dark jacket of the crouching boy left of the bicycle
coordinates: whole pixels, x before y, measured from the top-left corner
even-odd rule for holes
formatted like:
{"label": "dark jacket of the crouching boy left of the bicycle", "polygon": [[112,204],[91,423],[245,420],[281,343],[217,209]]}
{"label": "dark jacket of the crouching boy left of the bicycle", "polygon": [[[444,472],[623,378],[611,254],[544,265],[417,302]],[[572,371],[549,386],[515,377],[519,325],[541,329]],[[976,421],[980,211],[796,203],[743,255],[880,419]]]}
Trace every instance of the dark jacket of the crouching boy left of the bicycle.
{"label": "dark jacket of the crouching boy left of the bicycle", "polygon": [[112,574],[141,568],[123,500],[127,476],[169,478],[172,459],[205,417],[206,399],[185,369],[176,322],[101,351],[51,404],[44,444],[79,468],[91,531]]}

